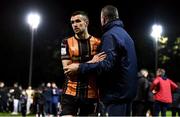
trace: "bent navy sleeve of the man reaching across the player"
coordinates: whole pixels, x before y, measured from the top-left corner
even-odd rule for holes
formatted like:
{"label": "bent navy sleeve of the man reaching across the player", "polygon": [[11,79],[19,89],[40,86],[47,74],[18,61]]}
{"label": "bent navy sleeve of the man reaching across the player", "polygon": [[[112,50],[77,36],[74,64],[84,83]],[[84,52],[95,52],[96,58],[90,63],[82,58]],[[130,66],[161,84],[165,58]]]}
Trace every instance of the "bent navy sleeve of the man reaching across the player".
{"label": "bent navy sleeve of the man reaching across the player", "polygon": [[102,46],[101,52],[105,52],[107,57],[98,63],[81,63],[79,67],[80,74],[101,74],[102,72],[107,72],[112,69],[115,63],[116,52],[115,52],[115,43],[114,38],[109,36],[102,37]]}

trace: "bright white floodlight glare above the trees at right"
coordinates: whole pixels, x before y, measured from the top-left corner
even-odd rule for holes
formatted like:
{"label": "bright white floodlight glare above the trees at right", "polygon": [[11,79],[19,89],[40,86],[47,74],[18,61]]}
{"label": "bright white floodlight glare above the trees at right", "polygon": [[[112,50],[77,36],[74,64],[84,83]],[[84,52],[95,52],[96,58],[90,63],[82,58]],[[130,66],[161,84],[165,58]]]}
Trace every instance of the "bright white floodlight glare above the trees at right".
{"label": "bright white floodlight glare above the trees at right", "polygon": [[153,25],[152,26],[152,33],[151,36],[154,37],[155,39],[160,38],[162,33],[162,26],[161,25]]}

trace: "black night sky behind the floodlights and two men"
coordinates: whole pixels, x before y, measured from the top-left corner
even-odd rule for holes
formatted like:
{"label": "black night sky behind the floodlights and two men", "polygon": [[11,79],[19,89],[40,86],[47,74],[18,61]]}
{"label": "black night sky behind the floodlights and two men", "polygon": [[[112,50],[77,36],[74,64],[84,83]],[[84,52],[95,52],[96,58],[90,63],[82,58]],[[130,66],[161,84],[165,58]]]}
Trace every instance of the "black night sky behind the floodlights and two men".
{"label": "black night sky behind the floodlights and two men", "polygon": [[[137,2],[137,3],[136,3]],[[11,86],[19,82],[28,85],[31,31],[26,22],[30,11],[41,15],[41,23],[34,35],[32,85],[55,81],[62,85],[64,76],[59,57],[60,42],[73,35],[70,15],[76,10],[89,15],[89,33],[101,37],[100,11],[104,5],[118,8],[124,28],[135,42],[138,67],[154,69],[154,43],[150,36],[151,26],[163,26],[163,36],[174,42],[180,37],[180,6],[178,0],[1,0],[0,1],[0,81]],[[176,60],[176,61],[173,61]],[[159,64],[167,75],[179,81],[180,59]]]}

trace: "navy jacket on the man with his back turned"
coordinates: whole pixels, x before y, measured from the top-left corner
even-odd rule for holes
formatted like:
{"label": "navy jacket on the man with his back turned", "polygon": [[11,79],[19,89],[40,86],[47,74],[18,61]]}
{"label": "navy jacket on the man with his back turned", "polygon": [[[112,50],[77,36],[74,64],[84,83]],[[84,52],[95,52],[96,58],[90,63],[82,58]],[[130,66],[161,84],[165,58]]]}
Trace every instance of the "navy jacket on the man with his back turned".
{"label": "navy jacket on the man with his back turned", "polygon": [[106,52],[106,59],[95,64],[80,64],[79,72],[100,75],[97,79],[104,103],[129,102],[135,97],[137,88],[134,42],[120,20],[107,23],[103,29],[101,52]]}

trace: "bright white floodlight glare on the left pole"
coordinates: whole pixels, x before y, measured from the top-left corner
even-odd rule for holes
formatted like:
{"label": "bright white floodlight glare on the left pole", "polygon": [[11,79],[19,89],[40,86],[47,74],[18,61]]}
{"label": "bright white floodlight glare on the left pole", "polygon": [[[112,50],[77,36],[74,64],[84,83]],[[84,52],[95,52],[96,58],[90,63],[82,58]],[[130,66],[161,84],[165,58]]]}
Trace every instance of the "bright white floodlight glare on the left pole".
{"label": "bright white floodlight glare on the left pole", "polygon": [[40,23],[40,16],[37,13],[30,13],[27,16],[27,22],[32,29],[36,29]]}

